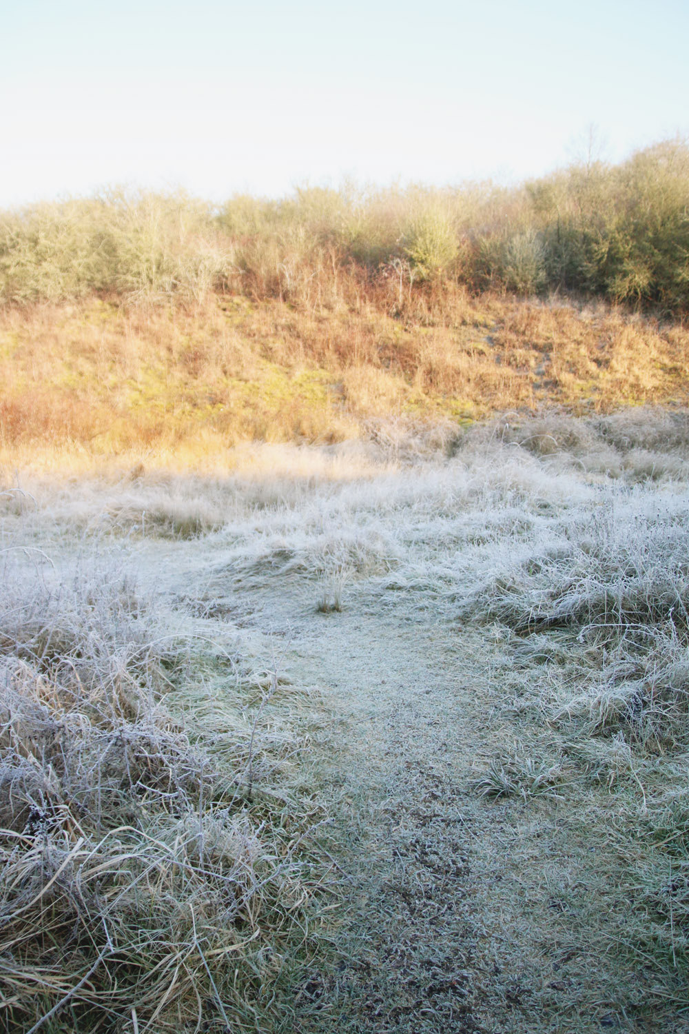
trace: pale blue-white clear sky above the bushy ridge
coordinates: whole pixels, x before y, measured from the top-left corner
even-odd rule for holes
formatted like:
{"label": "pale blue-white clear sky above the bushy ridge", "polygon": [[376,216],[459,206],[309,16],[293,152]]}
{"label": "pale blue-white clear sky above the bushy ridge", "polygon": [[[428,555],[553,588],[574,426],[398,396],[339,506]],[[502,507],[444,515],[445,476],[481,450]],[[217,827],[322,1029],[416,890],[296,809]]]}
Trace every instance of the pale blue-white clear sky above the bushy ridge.
{"label": "pale blue-white clear sky above the bushy ridge", "polygon": [[514,182],[689,132],[689,0],[0,0],[0,207]]}

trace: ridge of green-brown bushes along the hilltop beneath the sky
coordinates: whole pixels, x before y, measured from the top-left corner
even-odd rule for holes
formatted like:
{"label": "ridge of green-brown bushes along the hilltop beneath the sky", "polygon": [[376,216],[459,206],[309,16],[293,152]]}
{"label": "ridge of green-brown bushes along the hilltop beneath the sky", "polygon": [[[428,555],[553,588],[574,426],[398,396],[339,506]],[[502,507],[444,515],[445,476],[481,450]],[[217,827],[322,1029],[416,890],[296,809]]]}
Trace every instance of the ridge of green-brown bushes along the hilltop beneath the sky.
{"label": "ridge of green-brown bushes along the hilltop beneath the sky", "polygon": [[[381,295],[380,285],[385,284]],[[113,188],[0,213],[0,302],[88,296],[296,305],[375,303],[389,286],[569,291],[682,316],[689,308],[689,144],[577,162],[514,187],[297,188],[222,205]]]}

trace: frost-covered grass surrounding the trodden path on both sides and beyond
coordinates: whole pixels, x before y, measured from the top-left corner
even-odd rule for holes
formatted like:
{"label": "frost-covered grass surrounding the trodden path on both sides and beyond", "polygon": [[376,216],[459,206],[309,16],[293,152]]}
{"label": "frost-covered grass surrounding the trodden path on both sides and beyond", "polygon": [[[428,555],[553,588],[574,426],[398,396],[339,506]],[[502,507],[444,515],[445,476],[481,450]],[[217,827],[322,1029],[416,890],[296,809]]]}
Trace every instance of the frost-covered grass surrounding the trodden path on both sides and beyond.
{"label": "frost-covered grass surrounding the trodden path on both sides and beyond", "polygon": [[[515,800],[534,828],[546,809],[566,816],[615,917],[600,950],[689,1004],[686,415],[512,415],[441,444],[393,424],[356,444],[243,448],[224,473],[6,479],[3,993],[18,1030],[66,995],[72,1027],[133,1029],[132,989],[156,1030],[208,1008],[239,1029],[256,1010],[261,1029],[288,1022],[279,997],[262,1010],[313,889],[284,774],[303,696],[285,690],[264,723],[270,670],[202,637],[214,619],[236,635],[241,601],[293,585],[314,621],[402,594],[455,630],[458,656],[469,627],[500,644],[487,723],[511,733],[491,756],[477,742],[480,807]],[[87,576],[94,549],[121,550],[124,575]]]}

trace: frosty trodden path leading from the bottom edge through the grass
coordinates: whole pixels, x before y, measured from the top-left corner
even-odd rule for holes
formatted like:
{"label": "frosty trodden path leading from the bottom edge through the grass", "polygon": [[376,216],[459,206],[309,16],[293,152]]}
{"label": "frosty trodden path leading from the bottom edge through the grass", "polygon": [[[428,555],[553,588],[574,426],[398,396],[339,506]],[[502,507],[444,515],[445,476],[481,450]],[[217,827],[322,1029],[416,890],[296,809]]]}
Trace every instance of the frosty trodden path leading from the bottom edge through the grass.
{"label": "frosty trodden path leading from the bottom edge through the grass", "polygon": [[311,760],[345,902],[332,950],[295,989],[295,1032],[661,1029],[633,1018],[630,974],[588,942],[605,917],[577,817],[475,792],[487,759],[514,737],[500,706],[505,647],[490,630],[460,629],[422,594],[366,581],[331,613],[296,576],[238,592],[217,556],[200,579],[209,558],[192,552],[186,570],[177,554],[170,582],[231,608],[256,656],[317,687],[336,716]]}

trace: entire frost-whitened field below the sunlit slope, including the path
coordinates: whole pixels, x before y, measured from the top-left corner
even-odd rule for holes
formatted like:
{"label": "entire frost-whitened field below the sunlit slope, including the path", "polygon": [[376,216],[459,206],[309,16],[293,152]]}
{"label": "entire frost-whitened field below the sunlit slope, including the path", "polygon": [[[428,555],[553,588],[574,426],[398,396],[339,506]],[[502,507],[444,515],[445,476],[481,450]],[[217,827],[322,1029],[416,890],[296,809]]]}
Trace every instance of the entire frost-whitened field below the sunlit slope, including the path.
{"label": "entire frost-whitened field below the sunlit slope, including the path", "polygon": [[689,418],[4,466],[8,1032],[686,1032]]}

